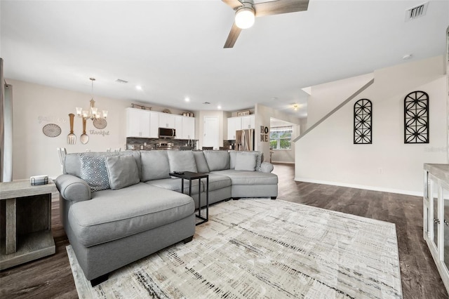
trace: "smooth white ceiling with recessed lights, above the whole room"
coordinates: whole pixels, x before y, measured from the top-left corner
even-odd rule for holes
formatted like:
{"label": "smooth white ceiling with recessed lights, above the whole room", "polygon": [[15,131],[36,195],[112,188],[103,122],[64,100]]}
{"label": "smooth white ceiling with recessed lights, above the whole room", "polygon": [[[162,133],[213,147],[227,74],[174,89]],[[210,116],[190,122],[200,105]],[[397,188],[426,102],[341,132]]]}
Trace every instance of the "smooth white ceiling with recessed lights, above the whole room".
{"label": "smooth white ceiling with recessed lights, above the whole room", "polygon": [[304,87],[406,54],[443,55],[449,1],[431,0],[427,15],[404,21],[424,1],[310,0],[308,11],[257,18],[225,49],[234,12],[220,0],[1,0],[0,55],[9,79],[91,93],[95,77],[94,95],[109,98],[187,111],[262,103],[304,117]]}

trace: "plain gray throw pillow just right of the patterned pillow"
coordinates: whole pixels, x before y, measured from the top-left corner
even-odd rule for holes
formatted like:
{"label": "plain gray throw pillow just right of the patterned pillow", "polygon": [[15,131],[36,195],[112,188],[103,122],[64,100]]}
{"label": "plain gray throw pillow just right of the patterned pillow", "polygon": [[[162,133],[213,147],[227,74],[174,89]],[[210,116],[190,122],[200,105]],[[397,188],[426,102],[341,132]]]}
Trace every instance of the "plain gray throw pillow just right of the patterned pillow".
{"label": "plain gray throw pillow just right of the patterned pillow", "polygon": [[133,156],[106,158],[109,185],[112,190],[121,189],[140,182],[138,164]]}

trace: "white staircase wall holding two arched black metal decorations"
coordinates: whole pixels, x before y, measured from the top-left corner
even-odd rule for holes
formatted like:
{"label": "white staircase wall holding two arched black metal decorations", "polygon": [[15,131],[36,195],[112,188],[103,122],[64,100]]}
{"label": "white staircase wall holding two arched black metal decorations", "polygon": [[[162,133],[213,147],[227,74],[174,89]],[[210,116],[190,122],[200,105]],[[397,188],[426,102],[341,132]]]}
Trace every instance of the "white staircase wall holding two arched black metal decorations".
{"label": "white staircase wall holding two arched black metal decorations", "polygon": [[[374,79],[366,91],[296,142],[295,180],[422,195],[422,165],[446,163],[448,151],[443,57],[379,69]],[[312,87],[312,95],[321,102],[335,100],[344,93],[342,87],[322,84]],[[429,94],[429,144],[403,142],[403,100],[412,91]],[[353,143],[354,103],[361,98],[373,102],[372,145]]]}

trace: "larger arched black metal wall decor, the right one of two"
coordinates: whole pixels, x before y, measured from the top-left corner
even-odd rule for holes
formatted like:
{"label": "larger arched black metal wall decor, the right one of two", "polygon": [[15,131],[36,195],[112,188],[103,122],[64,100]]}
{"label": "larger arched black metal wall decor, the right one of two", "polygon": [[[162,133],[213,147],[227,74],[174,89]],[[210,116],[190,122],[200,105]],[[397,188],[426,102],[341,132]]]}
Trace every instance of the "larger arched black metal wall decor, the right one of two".
{"label": "larger arched black metal wall decor, the right one of two", "polygon": [[404,143],[429,143],[429,95],[424,91],[404,99]]}

